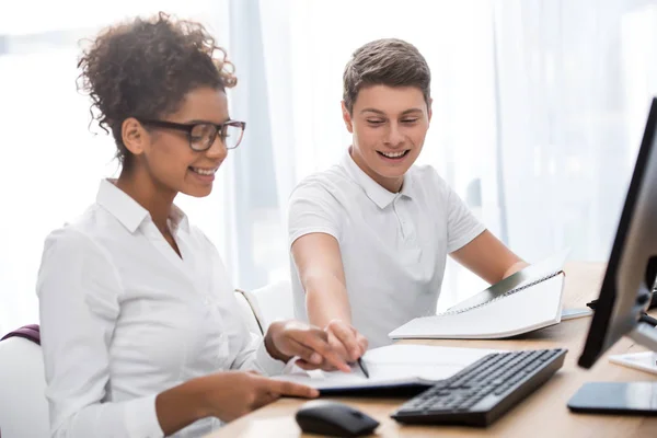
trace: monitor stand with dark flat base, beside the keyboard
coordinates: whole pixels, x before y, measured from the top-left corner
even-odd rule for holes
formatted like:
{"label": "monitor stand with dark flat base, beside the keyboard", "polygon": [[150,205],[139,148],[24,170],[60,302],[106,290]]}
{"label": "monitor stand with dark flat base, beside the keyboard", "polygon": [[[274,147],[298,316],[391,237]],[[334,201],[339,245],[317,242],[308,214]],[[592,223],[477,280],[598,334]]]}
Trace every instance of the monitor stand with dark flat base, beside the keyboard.
{"label": "monitor stand with dark flat base, beside the keyboard", "polygon": [[[657,327],[639,322],[629,337],[657,351]],[[657,416],[657,379],[646,373],[641,382],[588,382],[568,401],[568,408],[587,414]]]}

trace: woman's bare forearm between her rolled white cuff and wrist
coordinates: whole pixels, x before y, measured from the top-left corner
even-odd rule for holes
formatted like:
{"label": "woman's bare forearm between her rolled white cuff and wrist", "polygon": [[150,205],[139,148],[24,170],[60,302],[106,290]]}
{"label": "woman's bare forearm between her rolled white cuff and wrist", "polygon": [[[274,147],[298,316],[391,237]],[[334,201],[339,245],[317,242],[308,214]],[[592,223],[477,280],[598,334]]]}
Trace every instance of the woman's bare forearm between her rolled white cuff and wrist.
{"label": "woman's bare forearm between her rolled white cuff and wrist", "polygon": [[209,416],[204,403],[204,387],[201,379],[194,379],[166,390],[155,397],[158,422],[164,436]]}

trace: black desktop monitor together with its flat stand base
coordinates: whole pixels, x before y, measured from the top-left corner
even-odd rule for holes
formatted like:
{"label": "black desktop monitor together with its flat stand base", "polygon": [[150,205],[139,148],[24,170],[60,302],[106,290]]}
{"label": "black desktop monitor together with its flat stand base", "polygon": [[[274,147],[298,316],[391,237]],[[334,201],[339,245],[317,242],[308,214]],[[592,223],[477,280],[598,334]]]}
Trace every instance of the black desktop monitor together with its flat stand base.
{"label": "black desktop monitor together with its flat stand base", "polygon": [[[629,336],[657,351],[657,327],[642,322],[657,262],[657,99],[653,99],[625,205],[579,366],[591,368]],[[657,382],[588,382],[568,401],[575,413],[657,415]]]}

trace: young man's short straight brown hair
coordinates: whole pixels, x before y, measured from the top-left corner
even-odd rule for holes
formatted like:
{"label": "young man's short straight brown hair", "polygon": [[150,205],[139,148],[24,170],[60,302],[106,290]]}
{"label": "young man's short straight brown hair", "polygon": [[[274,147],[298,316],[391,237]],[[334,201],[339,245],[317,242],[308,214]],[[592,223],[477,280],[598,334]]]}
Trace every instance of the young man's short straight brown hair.
{"label": "young man's short straight brown hair", "polygon": [[358,92],[368,85],[416,87],[429,106],[431,71],[419,50],[403,39],[376,39],[351,55],[343,73],[343,100],[351,113]]}

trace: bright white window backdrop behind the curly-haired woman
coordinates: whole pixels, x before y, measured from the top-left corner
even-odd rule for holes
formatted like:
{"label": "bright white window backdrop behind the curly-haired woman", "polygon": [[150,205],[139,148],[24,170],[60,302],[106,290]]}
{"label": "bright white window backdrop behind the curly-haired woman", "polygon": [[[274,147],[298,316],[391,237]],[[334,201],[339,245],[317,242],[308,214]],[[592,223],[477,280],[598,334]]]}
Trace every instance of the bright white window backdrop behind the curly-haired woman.
{"label": "bright white window backdrop behind the curly-haired woman", "polygon": [[[0,3],[0,335],[38,322],[35,279],[45,237],[94,201],[101,177],[117,175],[113,140],[96,126],[88,129],[90,102],[76,90],[79,42],[160,10],[200,20],[227,42],[223,0]],[[221,251],[224,198],[222,189],[203,200],[178,198]]]}

